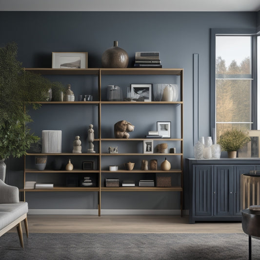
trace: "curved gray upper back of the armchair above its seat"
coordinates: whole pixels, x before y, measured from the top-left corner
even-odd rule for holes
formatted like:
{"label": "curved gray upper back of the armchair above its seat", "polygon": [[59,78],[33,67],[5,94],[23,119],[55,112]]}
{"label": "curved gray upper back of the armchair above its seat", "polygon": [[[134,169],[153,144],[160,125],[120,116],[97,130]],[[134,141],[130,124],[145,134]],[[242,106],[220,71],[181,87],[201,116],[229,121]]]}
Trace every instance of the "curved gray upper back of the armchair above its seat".
{"label": "curved gray upper back of the armchair above its seat", "polygon": [[0,203],[19,203],[19,189],[0,180]]}

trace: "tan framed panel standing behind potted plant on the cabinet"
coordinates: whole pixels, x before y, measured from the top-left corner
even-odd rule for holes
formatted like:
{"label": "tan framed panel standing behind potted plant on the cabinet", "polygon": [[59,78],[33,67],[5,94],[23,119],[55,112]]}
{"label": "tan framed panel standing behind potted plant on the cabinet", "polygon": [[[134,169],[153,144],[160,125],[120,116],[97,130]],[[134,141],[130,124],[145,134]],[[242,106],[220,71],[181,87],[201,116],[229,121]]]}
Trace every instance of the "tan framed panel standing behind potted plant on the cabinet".
{"label": "tan framed panel standing behind potted plant on the cabinet", "polygon": [[239,158],[260,158],[260,130],[248,131],[251,141],[238,151]]}

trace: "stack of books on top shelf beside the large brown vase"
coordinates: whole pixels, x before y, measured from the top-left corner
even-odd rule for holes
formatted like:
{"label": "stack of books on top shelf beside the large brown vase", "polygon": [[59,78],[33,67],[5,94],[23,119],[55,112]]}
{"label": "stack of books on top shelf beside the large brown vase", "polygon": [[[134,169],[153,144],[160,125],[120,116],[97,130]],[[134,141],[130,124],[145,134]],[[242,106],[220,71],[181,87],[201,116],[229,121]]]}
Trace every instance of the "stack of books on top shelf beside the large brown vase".
{"label": "stack of books on top shelf beside the large brown vase", "polygon": [[136,52],[135,68],[161,68],[160,52]]}

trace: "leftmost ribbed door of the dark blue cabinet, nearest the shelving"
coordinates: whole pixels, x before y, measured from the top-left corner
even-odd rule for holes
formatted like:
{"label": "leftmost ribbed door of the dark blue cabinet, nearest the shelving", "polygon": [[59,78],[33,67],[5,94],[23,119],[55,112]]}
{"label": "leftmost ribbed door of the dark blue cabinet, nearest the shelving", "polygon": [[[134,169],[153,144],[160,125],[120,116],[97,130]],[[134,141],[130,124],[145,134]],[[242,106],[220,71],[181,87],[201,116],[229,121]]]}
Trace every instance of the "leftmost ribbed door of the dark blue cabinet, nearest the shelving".
{"label": "leftmost ribbed door of the dark blue cabinet, nearest the shelving", "polygon": [[212,215],[212,166],[195,165],[193,191],[196,216]]}

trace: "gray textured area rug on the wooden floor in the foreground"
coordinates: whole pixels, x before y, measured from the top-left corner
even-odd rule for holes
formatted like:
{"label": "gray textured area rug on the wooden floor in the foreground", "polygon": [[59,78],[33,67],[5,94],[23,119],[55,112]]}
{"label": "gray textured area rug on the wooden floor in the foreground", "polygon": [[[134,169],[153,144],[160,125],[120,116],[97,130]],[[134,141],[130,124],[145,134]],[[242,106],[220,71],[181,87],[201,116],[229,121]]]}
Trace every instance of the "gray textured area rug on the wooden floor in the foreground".
{"label": "gray textured area rug on the wooden floor in the foreground", "polygon": [[[248,259],[245,234],[40,234],[0,237],[1,260],[228,260]],[[252,260],[260,240],[252,238]]]}

